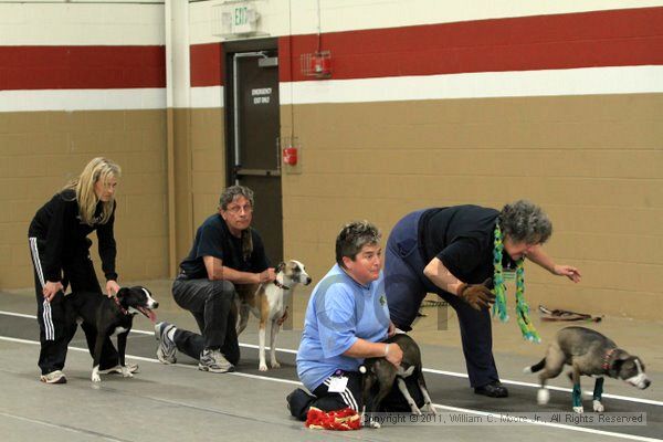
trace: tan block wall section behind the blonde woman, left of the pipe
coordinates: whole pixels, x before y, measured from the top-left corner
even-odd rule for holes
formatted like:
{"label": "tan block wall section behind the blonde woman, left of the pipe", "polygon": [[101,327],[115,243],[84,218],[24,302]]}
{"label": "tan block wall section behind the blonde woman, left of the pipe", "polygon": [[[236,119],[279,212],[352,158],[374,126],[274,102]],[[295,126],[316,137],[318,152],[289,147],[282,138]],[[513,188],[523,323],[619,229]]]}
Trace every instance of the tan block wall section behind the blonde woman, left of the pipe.
{"label": "tan block wall section behind the blonde woman, left of the pipe", "polygon": [[[92,158],[123,168],[117,191],[122,281],[167,274],[165,110],[0,114],[0,288],[33,284],[28,227],[36,210]],[[101,272],[96,253],[93,257]],[[103,275],[99,274],[103,282]]]}

